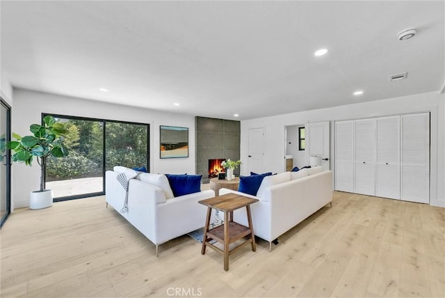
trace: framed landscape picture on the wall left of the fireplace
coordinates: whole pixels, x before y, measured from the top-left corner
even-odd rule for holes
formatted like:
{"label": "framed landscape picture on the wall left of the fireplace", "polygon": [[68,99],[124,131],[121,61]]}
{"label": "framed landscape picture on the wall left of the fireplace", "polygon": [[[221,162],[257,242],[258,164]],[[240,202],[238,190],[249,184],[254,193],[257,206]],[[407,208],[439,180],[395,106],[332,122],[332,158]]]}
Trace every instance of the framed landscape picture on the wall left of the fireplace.
{"label": "framed landscape picture on the wall left of the fireplace", "polygon": [[188,127],[160,125],[160,157],[188,157]]}

